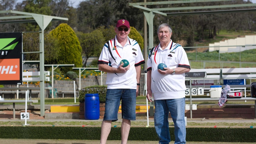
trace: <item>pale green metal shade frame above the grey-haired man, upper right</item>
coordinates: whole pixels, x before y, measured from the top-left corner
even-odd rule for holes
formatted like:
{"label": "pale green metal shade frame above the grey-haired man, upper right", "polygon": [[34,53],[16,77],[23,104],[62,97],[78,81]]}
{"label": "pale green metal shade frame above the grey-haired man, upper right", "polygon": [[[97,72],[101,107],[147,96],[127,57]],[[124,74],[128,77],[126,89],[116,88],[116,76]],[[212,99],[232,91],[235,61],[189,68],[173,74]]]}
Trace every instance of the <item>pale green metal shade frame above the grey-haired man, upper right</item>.
{"label": "pale green metal shade frame above the grey-haired man, upper right", "polygon": [[[229,5],[212,5],[212,6],[197,6],[197,7],[166,7],[166,8],[147,8],[146,5],[160,5],[160,4],[184,4],[184,3],[199,3],[199,2],[214,2],[214,1],[237,1],[237,0],[177,0],[177,1],[155,1],[155,2],[137,2],[129,3],[129,6],[143,10],[144,16],[148,23],[148,34],[149,34],[149,48],[153,48],[154,33],[153,33],[153,18],[155,14],[159,15],[198,15],[198,14],[215,14],[224,12],[251,12],[256,11],[256,4],[229,4]],[[223,8],[236,8],[236,7],[250,7],[250,9],[234,9],[234,10],[223,10]],[[213,11],[196,11],[196,12],[170,12],[176,10],[203,10],[203,9],[219,9]],[[165,11],[165,12],[161,12]],[[169,12],[167,12],[169,11]]]}

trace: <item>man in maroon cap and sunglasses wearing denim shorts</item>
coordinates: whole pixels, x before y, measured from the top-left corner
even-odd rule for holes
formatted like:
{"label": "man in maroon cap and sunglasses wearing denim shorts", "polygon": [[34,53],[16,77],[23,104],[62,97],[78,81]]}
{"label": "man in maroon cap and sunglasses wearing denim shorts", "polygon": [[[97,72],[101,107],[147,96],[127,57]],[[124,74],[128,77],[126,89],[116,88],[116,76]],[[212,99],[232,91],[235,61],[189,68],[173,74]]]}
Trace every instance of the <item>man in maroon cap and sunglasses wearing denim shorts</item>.
{"label": "man in maroon cap and sunglasses wearing denim shorts", "polygon": [[[130,24],[127,20],[116,23],[116,37],[105,43],[99,56],[99,70],[107,72],[107,95],[105,114],[101,125],[100,143],[106,144],[112,121],[118,120],[118,109],[121,103],[122,125],[121,144],[127,144],[131,120],[136,119],[136,97],[140,86],[141,64],[144,58],[138,42],[128,37]],[[126,59],[127,67],[120,61]]]}

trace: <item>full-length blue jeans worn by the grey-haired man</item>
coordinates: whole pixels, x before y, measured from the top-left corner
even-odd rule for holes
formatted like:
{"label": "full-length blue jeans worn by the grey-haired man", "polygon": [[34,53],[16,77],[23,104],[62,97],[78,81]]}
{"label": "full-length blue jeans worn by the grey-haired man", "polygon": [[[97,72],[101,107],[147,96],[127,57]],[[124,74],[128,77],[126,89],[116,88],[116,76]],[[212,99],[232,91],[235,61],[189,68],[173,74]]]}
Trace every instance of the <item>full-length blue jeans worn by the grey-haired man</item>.
{"label": "full-length blue jeans worn by the grey-haired man", "polygon": [[169,111],[174,123],[174,144],[185,144],[185,98],[154,100],[154,104],[154,121],[155,129],[159,137],[159,144],[169,144],[171,141],[168,122]]}

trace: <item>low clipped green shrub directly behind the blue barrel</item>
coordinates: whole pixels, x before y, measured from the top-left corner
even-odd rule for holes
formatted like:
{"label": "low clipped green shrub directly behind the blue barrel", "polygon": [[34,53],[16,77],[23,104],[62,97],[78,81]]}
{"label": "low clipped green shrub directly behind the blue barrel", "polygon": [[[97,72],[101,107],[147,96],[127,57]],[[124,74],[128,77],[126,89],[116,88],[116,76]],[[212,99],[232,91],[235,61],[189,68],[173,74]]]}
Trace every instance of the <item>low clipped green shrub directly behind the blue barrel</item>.
{"label": "low clipped green shrub directly behind the blue barrel", "polygon": [[84,102],[85,94],[99,94],[99,102],[106,101],[107,86],[88,86],[79,91],[79,102]]}

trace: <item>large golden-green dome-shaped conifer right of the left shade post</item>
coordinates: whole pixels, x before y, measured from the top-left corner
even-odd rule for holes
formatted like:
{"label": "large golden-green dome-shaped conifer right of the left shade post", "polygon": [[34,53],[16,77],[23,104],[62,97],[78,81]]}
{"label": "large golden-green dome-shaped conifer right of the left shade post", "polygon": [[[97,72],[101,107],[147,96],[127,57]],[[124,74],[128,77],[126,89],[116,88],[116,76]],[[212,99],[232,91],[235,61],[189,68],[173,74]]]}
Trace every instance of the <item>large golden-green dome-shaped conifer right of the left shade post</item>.
{"label": "large golden-green dome-shaped conifer right of the left shade post", "polygon": [[[75,31],[66,23],[61,23],[58,27],[50,31],[50,34],[58,39],[59,56],[58,64],[75,64],[75,67],[82,67],[82,48]],[[71,71],[71,67],[61,67],[66,73]]]}

